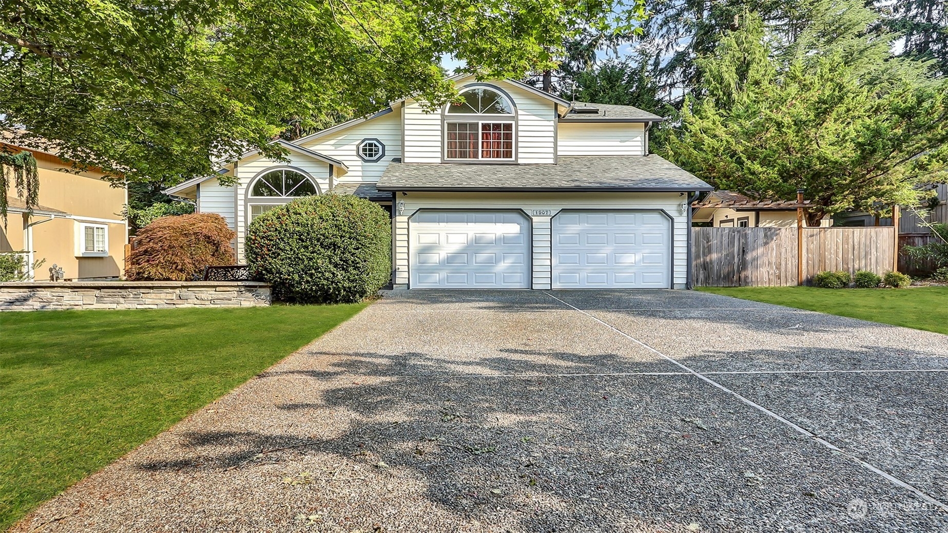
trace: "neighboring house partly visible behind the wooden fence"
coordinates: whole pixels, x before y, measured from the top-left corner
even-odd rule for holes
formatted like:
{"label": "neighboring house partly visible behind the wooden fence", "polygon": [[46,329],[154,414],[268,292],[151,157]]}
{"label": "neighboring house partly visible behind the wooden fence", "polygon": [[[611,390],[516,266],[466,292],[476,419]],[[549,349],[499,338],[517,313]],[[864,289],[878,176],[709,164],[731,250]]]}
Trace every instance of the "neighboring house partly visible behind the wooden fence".
{"label": "neighboring house partly visible behind the wooden fence", "polygon": [[[796,208],[808,203],[754,200],[731,191],[714,191],[691,203],[691,218],[712,228],[795,228]],[[832,226],[832,219],[825,217],[820,226]]]}

